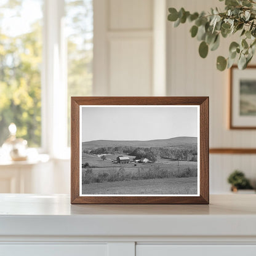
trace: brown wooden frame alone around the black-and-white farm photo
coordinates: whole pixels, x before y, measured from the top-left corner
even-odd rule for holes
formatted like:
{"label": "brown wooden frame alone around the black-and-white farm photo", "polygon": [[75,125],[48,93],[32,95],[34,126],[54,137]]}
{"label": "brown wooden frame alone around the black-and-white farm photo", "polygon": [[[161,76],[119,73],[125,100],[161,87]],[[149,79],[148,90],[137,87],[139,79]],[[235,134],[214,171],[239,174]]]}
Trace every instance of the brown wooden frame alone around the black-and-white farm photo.
{"label": "brown wooden frame alone around the black-and-white farm photo", "polygon": [[[81,105],[199,105],[200,196],[79,196]],[[71,97],[71,204],[209,204],[209,97]]]}

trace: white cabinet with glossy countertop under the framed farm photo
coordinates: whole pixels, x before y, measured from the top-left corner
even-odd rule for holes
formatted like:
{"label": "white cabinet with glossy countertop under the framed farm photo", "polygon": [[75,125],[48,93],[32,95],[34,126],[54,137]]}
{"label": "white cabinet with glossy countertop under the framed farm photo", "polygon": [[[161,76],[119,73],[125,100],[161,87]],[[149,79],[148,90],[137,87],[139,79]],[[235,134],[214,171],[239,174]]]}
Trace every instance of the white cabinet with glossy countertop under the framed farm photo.
{"label": "white cabinet with glossy countertop under the framed farm photo", "polygon": [[255,256],[256,194],[210,205],[71,205],[69,196],[0,194],[4,256]]}

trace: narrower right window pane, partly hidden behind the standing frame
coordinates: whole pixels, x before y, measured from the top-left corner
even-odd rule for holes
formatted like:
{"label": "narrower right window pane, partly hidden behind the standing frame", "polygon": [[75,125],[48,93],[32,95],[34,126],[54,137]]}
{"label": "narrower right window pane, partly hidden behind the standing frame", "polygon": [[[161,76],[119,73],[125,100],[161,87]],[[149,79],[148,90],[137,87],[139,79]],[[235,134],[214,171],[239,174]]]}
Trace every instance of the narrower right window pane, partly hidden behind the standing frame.
{"label": "narrower right window pane, partly hidden behind the standing frame", "polygon": [[70,145],[70,97],[92,94],[93,2],[66,0],[68,45],[68,145]]}

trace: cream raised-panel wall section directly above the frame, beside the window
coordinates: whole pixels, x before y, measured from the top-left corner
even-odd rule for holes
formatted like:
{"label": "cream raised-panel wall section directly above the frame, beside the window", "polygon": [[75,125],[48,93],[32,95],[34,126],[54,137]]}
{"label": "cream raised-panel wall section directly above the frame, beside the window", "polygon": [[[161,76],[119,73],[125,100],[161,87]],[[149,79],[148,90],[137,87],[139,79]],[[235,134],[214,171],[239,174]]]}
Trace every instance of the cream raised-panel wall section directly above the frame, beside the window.
{"label": "cream raised-panel wall section directly above the frame, beside the window", "polygon": [[165,92],[165,16],[166,0],[94,0],[94,95]]}

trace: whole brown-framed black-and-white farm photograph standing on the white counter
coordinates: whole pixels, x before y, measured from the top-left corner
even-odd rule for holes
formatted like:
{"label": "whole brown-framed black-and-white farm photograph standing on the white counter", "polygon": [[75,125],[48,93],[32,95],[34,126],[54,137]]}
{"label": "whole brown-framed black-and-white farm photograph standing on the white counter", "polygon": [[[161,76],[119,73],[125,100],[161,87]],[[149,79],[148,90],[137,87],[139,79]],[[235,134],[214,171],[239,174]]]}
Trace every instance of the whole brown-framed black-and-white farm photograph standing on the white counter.
{"label": "whole brown-framed black-and-white farm photograph standing on the white counter", "polygon": [[71,97],[71,204],[209,204],[209,98]]}

